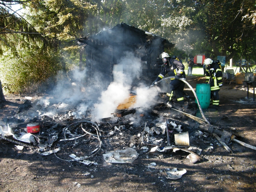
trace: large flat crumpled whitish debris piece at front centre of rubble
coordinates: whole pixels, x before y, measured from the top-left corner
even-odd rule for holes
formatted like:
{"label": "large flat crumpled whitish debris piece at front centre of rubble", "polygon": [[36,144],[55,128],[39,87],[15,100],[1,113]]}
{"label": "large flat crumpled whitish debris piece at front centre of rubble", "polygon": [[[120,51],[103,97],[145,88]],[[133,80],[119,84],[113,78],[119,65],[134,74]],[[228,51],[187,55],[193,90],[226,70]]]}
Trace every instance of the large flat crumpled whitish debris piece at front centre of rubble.
{"label": "large flat crumpled whitish debris piece at front centre of rubble", "polygon": [[134,148],[126,148],[124,150],[109,151],[103,154],[104,160],[108,163],[132,163],[138,153]]}

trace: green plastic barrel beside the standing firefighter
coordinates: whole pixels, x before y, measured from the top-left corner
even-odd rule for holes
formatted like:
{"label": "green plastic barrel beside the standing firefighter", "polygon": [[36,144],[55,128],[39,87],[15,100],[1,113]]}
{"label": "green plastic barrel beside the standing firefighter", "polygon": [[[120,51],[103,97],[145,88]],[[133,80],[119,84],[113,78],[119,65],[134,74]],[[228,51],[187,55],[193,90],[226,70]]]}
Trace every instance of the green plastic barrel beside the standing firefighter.
{"label": "green plastic barrel beside the standing firefighter", "polygon": [[[204,84],[204,83],[196,84],[196,95],[198,97],[201,108],[207,109],[210,106],[210,100],[211,100],[210,84]],[[196,101],[196,104],[197,104],[197,101]]]}

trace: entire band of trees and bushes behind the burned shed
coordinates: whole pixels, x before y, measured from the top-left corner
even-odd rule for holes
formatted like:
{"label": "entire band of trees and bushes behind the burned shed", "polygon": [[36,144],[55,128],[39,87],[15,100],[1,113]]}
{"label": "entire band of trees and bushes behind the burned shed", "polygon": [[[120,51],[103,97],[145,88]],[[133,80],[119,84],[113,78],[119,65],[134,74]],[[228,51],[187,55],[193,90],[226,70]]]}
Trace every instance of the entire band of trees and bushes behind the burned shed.
{"label": "entire band of trees and bushes behind the burned shed", "polygon": [[[13,4],[28,12],[15,13]],[[167,38],[176,44],[168,52],[183,60],[201,53],[235,60],[245,46],[256,60],[255,6],[251,0],[0,1],[0,77],[6,89],[20,92],[59,69],[81,67],[85,58],[75,39],[122,21]]]}

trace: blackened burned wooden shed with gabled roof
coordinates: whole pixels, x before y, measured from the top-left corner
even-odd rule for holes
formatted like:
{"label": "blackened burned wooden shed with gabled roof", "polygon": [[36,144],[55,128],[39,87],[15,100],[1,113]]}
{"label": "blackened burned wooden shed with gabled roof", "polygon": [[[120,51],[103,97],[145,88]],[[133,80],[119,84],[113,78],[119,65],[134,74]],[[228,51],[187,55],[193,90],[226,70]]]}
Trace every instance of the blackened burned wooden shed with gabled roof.
{"label": "blackened burned wooden shed with gabled roof", "polygon": [[129,67],[123,67],[124,62],[120,62],[126,52],[140,58],[142,72],[139,78],[133,80],[133,86],[152,83],[161,71],[162,60],[159,55],[164,52],[164,48],[174,46],[167,39],[123,22],[80,39],[79,42],[85,44],[87,76],[95,78],[101,73],[107,84],[114,80],[114,70]]}

